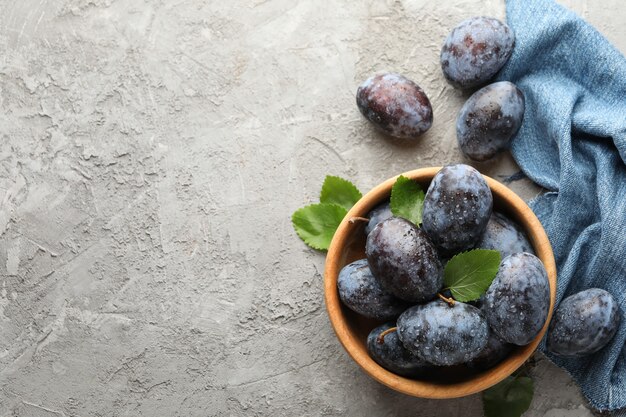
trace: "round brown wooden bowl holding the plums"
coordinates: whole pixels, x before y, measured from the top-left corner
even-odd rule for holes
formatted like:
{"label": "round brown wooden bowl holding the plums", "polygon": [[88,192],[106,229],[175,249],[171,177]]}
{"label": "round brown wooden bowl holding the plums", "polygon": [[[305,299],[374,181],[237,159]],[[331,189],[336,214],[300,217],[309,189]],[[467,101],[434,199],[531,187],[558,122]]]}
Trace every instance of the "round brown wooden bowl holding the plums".
{"label": "round brown wooden bowl holding the plums", "polygon": [[[405,177],[421,184],[426,190],[440,167],[423,168],[405,172]],[[387,371],[378,365],[367,353],[366,339],[370,330],[381,322],[364,318],[343,306],[337,292],[337,276],[341,268],[357,259],[365,258],[364,222],[349,221],[352,217],[367,217],[369,211],[387,200],[397,177],[393,177],[374,187],[364,195],[343,219],[335,232],[324,271],[324,292],[326,309],[337,338],[354,361],[378,382],[404,394],[421,398],[456,398],[483,391],[511,375],[535,351],[552,317],[556,297],[556,266],[548,236],[541,223],[513,191],[498,181],[485,176],[493,193],[494,210],[503,212],[516,221],[533,245],[536,255],[543,262],[550,281],[550,311],[541,332],[528,345],[516,348],[507,358],[495,367],[483,372],[473,372],[459,366],[447,369],[425,379],[408,379]]]}

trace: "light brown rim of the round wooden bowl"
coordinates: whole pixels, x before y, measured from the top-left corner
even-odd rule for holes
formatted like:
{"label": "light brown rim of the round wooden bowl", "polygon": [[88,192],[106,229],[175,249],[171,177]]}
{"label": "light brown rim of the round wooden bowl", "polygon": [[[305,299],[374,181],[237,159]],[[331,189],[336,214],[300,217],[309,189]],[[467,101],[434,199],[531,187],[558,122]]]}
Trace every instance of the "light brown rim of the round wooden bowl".
{"label": "light brown rim of the round wooden bowl", "polygon": [[381,384],[407,395],[431,399],[458,398],[475,394],[494,386],[515,372],[515,370],[530,358],[541,342],[550,324],[556,300],[556,264],[554,254],[548,236],[539,222],[539,219],[537,219],[537,216],[535,216],[530,207],[528,207],[524,200],[515,194],[515,192],[495,179],[483,175],[494,195],[494,202],[496,200],[501,201],[503,203],[502,205],[507,207],[511,213],[515,213],[516,222],[522,226],[526,232],[536,255],[541,259],[546,268],[548,281],[550,283],[550,309],[543,328],[531,343],[526,346],[521,346],[516,350],[516,353],[509,355],[493,368],[478,373],[476,376],[464,381],[449,384],[404,378],[387,371],[369,356],[365,347],[358,342],[356,335],[348,326],[337,291],[337,276],[341,267],[343,267],[341,263],[344,260],[342,255],[343,248],[348,244],[351,233],[357,227],[350,219],[352,217],[367,216],[368,212],[373,207],[381,203],[384,199],[389,198],[391,187],[400,175],[417,181],[427,182],[431,181],[441,168],[442,167],[429,167],[404,172],[383,181],[361,197],[348,211],[348,214],[337,228],[328,249],[324,268],[324,299],[326,310],[335,334],[346,352],[348,352],[365,373]]}

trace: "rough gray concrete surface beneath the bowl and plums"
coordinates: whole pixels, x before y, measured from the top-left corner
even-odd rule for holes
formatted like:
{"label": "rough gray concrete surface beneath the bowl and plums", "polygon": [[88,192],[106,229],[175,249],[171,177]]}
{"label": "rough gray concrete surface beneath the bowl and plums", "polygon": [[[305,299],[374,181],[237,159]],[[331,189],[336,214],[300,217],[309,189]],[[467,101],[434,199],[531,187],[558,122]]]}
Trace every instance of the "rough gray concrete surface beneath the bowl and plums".
{"label": "rough gray concrete surface beneath the bowl and plums", "polygon": [[[626,50],[621,1],[564,3]],[[438,54],[478,14],[503,2],[0,0],[0,416],[480,416],[359,370],[290,224],[326,174],[463,160]],[[384,69],[434,103],[414,146],[356,110]],[[527,416],[591,415],[533,374]]]}

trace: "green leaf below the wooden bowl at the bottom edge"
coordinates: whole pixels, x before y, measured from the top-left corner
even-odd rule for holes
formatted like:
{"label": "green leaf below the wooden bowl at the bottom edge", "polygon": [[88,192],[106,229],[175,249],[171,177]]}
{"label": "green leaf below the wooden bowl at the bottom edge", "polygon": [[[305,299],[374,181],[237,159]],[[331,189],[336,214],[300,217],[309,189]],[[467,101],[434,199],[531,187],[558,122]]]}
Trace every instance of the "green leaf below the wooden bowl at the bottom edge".
{"label": "green leaf below the wooden bowl at the bottom edge", "polygon": [[483,392],[485,417],[520,417],[533,400],[533,380],[510,376]]}

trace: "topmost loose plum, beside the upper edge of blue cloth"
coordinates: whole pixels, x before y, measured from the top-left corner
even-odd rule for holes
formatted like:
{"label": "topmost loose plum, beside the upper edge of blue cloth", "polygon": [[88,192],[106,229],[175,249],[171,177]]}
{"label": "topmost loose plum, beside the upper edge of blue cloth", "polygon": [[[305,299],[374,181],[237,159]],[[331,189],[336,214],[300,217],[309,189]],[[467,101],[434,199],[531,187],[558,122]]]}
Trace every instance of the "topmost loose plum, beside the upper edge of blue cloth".
{"label": "topmost loose plum, beside the upper edge of blue cloth", "polygon": [[513,52],[513,31],[498,19],[473,17],[464,20],[441,48],[441,69],[456,88],[478,87],[491,79]]}

